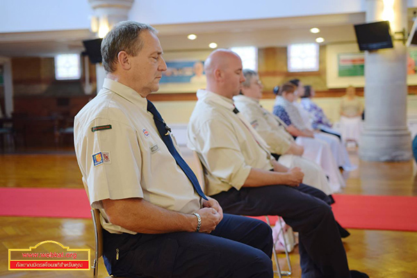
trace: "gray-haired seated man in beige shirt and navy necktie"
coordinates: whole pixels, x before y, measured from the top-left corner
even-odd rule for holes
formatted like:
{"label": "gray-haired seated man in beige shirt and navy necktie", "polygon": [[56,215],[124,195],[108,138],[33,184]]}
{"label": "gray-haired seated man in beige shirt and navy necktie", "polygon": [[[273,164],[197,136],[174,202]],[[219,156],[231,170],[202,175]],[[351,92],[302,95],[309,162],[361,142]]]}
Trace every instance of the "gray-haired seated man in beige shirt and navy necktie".
{"label": "gray-haired seated man in beige shirt and navy necktie", "polygon": [[[152,26],[120,22],[101,43],[103,89],[74,121],[77,161],[100,210],[104,263],[115,277],[273,277],[272,235],[223,214],[179,154],[146,97],[167,69]],[[237,229],[238,228],[238,229]]]}

